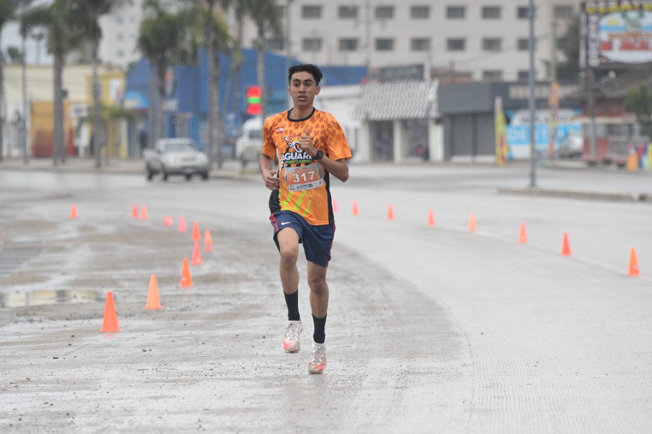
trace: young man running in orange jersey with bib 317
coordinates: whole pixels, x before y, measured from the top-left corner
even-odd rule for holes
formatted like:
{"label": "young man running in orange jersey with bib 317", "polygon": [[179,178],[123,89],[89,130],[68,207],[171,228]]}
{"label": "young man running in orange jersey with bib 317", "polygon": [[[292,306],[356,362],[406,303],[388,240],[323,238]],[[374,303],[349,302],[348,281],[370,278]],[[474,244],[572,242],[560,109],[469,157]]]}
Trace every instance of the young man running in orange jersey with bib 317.
{"label": "young man running in orange jersey with bib 317", "polygon": [[[299,351],[303,329],[299,315],[299,244],[308,261],[308,287],[314,334],[308,372],[326,366],[324,328],[328,308],[326,270],[335,233],[330,175],[349,178],[346,160],[351,150],[342,127],[329,113],[312,106],[321,88],[321,70],[315,65],[295,65],[288,70],[288,93],[293,107],[265,120],[260,173],[273,190],[269,199],[274,242],[280,253],[280,278],[288,305],[283,348]],[[273,160],[278,152],[278,170]]]}

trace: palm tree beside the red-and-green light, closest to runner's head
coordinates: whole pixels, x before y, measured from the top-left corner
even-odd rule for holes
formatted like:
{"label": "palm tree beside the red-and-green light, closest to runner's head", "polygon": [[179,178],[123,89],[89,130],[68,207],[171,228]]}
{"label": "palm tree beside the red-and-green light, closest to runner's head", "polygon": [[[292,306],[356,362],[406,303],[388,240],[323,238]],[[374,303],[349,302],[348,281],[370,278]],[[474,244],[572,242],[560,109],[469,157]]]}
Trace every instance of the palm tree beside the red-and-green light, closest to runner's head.
{"label": "palm tree beside the red-and-green light, closest to runner's head", "polygon": [[[242,44],[242,28],[244,17],[248,16],[256,24],[258,37],[256,38],[256,50],[258,50],[258,62],[256,63],[256,78],[262,91],[261,113],[262,119],[267,117],[267,86],[265,85],[265,36],[272,33],[273,36],[282,36],[282,25],[278,8],[274,0],[224,0],[225,7],[235,8],[235,16],[238,22],[238,45]],[[238,65],[239,67],[239,65]],[[239,74],[238,74],[239,75]]]}

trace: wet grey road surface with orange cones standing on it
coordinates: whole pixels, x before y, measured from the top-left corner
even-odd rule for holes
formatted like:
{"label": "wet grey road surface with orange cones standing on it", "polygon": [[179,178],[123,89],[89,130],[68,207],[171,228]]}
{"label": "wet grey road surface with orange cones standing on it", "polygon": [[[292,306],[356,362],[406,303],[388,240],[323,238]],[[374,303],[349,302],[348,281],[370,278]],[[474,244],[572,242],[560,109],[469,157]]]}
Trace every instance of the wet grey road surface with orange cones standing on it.
{"label": "wet grey road surface with orange cones standing on it", "polygon": [[[652,204],[497,193],[526,187],[527,175],[522,165],[351,166],[349,182],[334,181],[328,364],[308,375],[305,346],[280,345],[278,254],[256,175],[0,171],[0,428],[650,432]],[[538,175],[550,189],[652,191],[644,173]],[[215,251],[182,290],[193,222]],[[151,274],[162,310],[144,310]],[[107,291],[121,332],[98,332]],[[302,341],[311,334],[308,324]]]}

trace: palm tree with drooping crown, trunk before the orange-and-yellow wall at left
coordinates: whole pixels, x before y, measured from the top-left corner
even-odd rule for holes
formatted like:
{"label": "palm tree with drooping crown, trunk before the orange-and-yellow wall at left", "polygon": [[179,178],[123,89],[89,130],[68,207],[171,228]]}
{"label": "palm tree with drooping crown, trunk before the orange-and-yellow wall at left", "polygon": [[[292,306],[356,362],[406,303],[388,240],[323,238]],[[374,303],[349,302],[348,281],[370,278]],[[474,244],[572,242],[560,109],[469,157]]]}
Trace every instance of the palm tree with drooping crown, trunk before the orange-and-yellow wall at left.
{"label": "palm tree with drooping crown, trunk before the orange-and-yellow wall at left", "polygon": [[63,68],[65,56],[80,46],[84,29],[80,25],[83,17],[70,8],[69,0],[55,0],[52,5],[38,5],[29,8],[21,16],[20,33],[27,35],[35,27],[48,32],[48,52],[54,60],[54,140],[52,143],[52,164],[65,162],[63,131]]}

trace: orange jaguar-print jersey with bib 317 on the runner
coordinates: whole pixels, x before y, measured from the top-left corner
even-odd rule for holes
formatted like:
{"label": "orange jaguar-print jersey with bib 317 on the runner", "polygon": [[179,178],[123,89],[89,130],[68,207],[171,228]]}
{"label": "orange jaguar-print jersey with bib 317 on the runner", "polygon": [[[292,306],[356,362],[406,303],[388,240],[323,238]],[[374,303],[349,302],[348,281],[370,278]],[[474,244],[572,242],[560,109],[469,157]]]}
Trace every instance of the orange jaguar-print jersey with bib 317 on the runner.
{"label": "orange jaguar-print jersey with bib 317 on the runner", "polygon": [[306,119],[290,120],[288,111],[273,115],[263,127],[263,154],[276,158],[279,176],[277,210],[296,212],[311,225],[334,222],[329,173],[299,147],[308,130],[312,143],[331,160],[351,158],[351,149],[335,117],[314,109]]}

